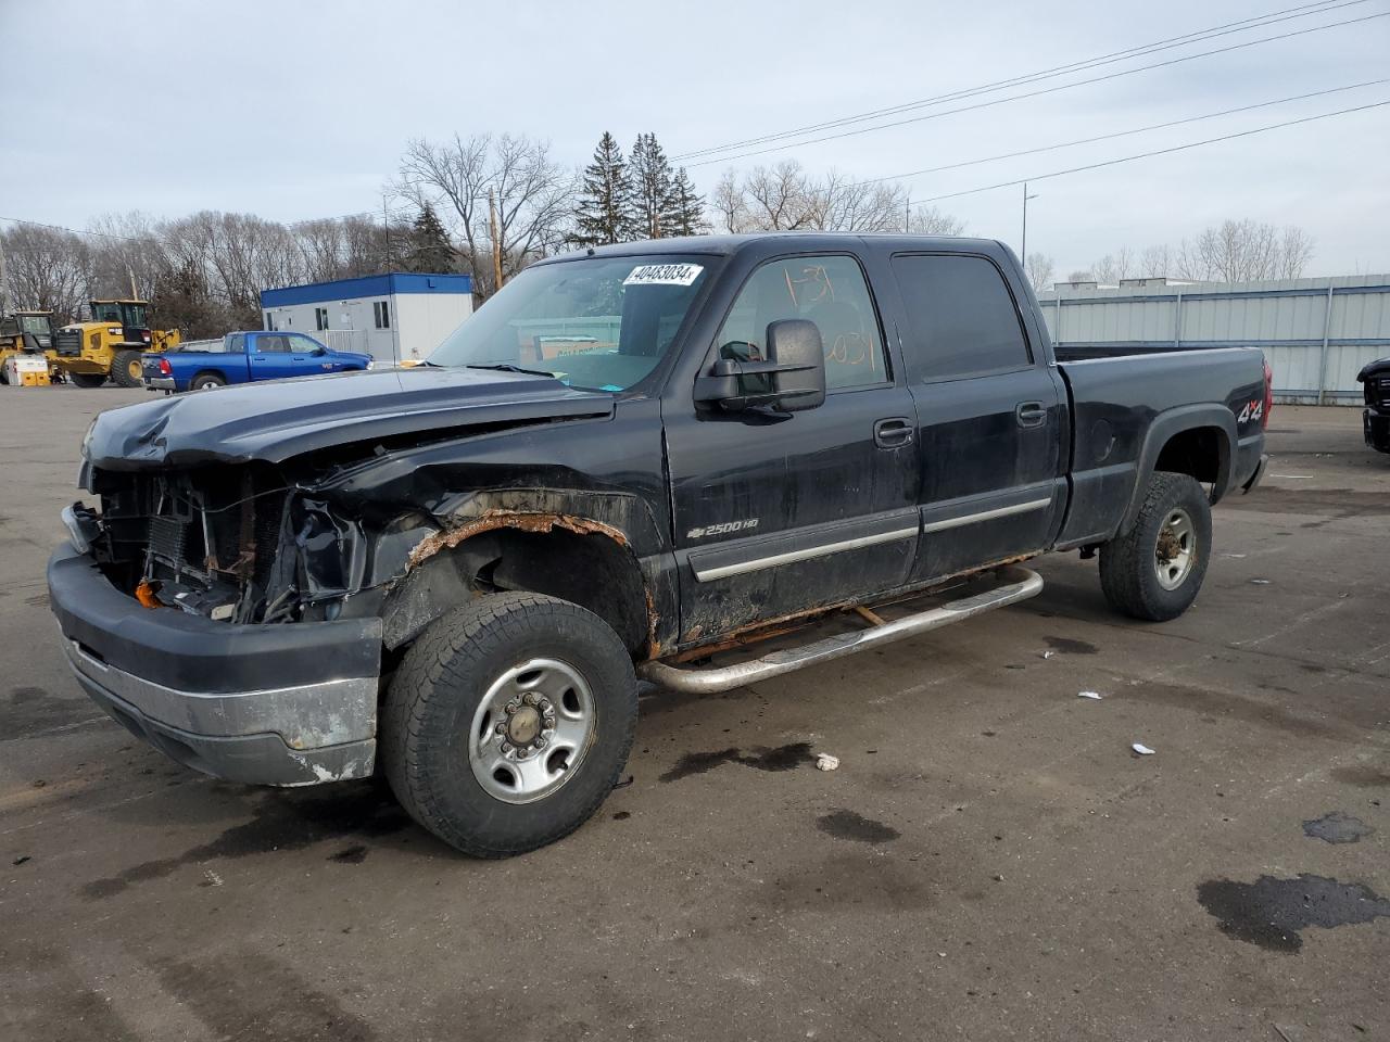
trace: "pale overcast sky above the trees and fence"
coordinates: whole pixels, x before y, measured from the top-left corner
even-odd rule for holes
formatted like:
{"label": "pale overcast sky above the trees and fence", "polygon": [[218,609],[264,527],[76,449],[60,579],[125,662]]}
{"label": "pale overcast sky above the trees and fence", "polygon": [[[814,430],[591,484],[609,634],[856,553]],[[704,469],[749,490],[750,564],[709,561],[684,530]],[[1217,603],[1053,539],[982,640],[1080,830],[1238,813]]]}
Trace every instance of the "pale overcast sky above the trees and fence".
{"label": "pale overcast sky above the trees and fence", "polygon": [[[676,156],[1293,6],[0,0],[0,215],[85,228],[126,210],[379,211],[417,136],[527,133],[578,167],[605,129],[624,147],[653,131]],[[1368,0],[1022,90],[1386,11]],[[727,165],[792,157],[877,178],[1387,76],[1390,17],[691,174],[708,192]],[[905,181],[927,199],[1387,99],[1380,83]],[[1309,274],[1390,271],[1390,106],[1031,190],[1029,250],[1059,272],[1226,217],[1301,225]],[[1019,193],[938,206],[1017,249]]]}

